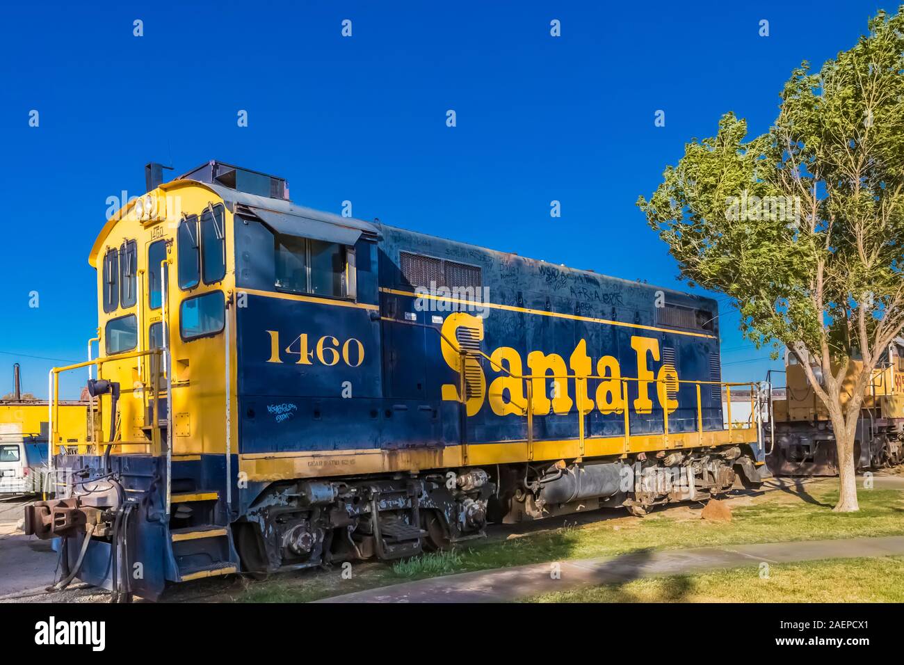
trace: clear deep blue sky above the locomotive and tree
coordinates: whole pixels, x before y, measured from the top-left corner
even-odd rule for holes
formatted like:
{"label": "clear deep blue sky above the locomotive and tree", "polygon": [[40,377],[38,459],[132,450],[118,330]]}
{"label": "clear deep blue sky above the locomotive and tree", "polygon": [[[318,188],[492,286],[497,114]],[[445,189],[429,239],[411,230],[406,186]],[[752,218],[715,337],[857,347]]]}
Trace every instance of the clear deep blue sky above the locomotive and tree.
{"label": "clear deep blue sky above the locomotive and tree", "polygon": [[[637,210],[732,110],[765,131],[875,2],[20,3],[0,10],[0,394],[46,395],[97,326],[88,252],[148,161],[287,177],[294,201],[683,287]],[[144,36],[133,36],[133,21]],[[353,36],[341,35],[352,21]],[[550,35],[559,19],[561,37]],[[769,36],[758,36],[759,21]],[[29,112],[40,126],[28,126]],[[237,125],[245,109],[249,127]],[[457,127],[446,127],[447,109]],[[654,113],[665,111],[665,127]],[[551,200],[561,202],[552,219]],[[37,291],[40,307],[29,307]],[[723,375],[780,367],[722,302]],[[42,357],[32,357],[42,356]],[[59,359],[50,360],[47,358]],[[84,375],[63,384],[78,394]]]}

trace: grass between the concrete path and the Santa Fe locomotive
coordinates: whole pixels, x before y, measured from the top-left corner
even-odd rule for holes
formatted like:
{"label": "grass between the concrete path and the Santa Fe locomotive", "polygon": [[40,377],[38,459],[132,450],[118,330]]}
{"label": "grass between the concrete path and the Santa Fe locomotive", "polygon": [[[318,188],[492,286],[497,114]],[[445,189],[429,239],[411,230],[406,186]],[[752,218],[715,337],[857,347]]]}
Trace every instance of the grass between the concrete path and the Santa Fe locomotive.
{"label": "grass between the concrete path and the Santa Fe locomotive", "polygon": [[[325,573],[274,575],[265,582],[255,583],[243,581],[239,589],[224,590],[224,596],[218,600],[306,602],[434,575],[617,556],[644,549],[904,535],[904,492],[860,489],[860,512],[833,513],[837,484],[835,479],[821,480],[802,484],[797,489],[791,487],[731,499],[731,522],[703,520],[700,504],[688,504],[657,510],[645,518],[611,510],[594,513],[592,520],[580,525],[547,528],[541,521],[533,527],[540,530],[524,526],[494,527],[494,537],[471,541],[451,553],[420,556],[394,565],[354,564],[351,578],[343,577],[337,566]],[[586,521],[588,517],[589,514],[581,519]],[[882,575],[877,578],[884,579]],[[638,581],[636,584],[667,583]]]}

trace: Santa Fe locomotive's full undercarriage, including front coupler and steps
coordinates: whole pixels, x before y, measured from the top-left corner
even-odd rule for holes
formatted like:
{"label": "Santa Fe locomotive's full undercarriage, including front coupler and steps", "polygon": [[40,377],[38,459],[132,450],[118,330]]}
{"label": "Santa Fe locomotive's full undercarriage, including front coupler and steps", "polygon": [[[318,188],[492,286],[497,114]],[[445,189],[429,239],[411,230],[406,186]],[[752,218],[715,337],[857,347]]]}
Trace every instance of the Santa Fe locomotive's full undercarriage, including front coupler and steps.
{"label": "Santa Fe locomotive's full undercarriage, including front coupler and steps", "polygon": [[[82,460],[72,460],[78,466]],[[523,462],[379,476],[286,480],[259,489],[230,518],[221,490],[172,494],[165,511],[162,463],[71,486],[66,498],[36,502],[26,532],[61,537],[72,577],[114,594],[159,595],[166,581],[370,558],[394,560],[483,537],[487,523],[511,524],[596,508],[644,515],[656,506],[718,497],[761,479],[747,446],[637,453],[613,460]],[[92,477],[94,474],[91,474]],[[144,489],[137,489],[145,479]],[[161,550],[162,548],[162,550]],[[162,566],[127,575],[164,553]],[[86,556],[87,553],[87,556]],[[64,566],[65,567],[65,566]],[[68,584],[68,582],[66,583]]]}

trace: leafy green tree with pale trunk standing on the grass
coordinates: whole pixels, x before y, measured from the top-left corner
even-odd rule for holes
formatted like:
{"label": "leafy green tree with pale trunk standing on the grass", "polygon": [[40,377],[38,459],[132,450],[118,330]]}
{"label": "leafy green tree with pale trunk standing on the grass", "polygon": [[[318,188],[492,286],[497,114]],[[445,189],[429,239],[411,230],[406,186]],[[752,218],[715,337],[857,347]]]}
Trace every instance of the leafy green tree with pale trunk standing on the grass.
{"label": "leafy green tree with pale trunk standing on the grass", "polygon": [[637,201],[684,279],[730,296],[758,347],[797,356],[831,419],[837,511],[858,509],[863,395],[904,325],[904,5],[868,25],[817,73],[793,71],[767,134],[725,115]]}

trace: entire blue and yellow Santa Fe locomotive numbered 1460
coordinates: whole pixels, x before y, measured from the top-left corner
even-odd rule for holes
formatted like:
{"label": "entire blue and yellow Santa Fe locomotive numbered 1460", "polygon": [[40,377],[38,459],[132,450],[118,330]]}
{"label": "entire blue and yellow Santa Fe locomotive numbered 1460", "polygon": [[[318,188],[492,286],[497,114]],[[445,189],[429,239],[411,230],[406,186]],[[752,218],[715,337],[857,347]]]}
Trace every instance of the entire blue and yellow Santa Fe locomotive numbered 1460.
{"label": "entire blue and yellow Santa Fe locomotive numbered 1460", "polygon": [[92,431],[52,416],[58,491],[27,509],[61,584],[155,598],[760,482],[715,301],[316,212],[220,162],[160,173],[91,250],[98,357],[52,372],[55,394],[97,368]]}

